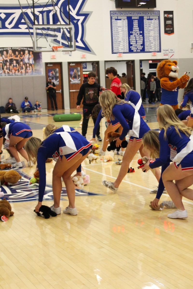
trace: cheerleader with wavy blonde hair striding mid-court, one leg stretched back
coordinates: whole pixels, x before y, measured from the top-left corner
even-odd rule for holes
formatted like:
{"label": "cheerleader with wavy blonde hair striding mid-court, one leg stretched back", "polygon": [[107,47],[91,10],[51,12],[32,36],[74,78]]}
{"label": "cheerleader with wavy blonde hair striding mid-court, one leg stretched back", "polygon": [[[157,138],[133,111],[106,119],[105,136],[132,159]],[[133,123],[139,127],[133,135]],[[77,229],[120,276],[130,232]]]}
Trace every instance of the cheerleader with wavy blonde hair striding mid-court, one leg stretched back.
{"label": "cheerleader with wavy blonde hair striding mid-court, one leg stretched back", "polygon": [[147,152],[142,152],[143,144],[141,140],[143,135],[150,130],[150,128],[141,118],[134,104],[129,104],[126,101],[118,99],[112,91],[105,90],[102,92],[99,97],[99,102],[104,117],[110,120],[116,118],[123,127],[121,136],[116,139],[116,147],[121,146],[124,137],[127,134],[129,135],[129,143],[126,147],[117,179],[114,183],[111,181],[102,182],[104,186],[110,188],[113,192],[117,192],[122,179],[128,172],[129,164],[137,151],[139,150],[141,156],[148,155]]}

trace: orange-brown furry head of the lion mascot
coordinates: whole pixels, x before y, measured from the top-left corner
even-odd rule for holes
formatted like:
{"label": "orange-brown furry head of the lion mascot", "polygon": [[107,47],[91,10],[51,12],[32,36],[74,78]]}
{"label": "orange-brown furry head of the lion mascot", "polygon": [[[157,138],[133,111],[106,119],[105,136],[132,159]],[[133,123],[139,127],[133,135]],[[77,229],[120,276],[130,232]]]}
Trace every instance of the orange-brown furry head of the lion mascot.
{"label": "orange-brown furry head of the lion mascot", "polygon": [[157,65],[157,77],[159,79],[163,77],[168,77],[169,79],[177,79],[178,78],[178,70],[177,61],[170,61],[169,59],[162,60]]}

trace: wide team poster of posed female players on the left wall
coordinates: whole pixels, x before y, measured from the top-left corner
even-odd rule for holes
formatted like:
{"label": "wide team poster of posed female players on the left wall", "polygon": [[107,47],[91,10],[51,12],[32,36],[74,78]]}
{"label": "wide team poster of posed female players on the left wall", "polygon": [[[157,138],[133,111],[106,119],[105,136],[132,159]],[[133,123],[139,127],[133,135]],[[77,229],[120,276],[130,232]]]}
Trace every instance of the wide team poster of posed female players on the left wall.
{"label": "wide team poster of posed female players on the left wall", "polygon": [[0,48],[0,76],[41,75],[42,53],[33,47]]}

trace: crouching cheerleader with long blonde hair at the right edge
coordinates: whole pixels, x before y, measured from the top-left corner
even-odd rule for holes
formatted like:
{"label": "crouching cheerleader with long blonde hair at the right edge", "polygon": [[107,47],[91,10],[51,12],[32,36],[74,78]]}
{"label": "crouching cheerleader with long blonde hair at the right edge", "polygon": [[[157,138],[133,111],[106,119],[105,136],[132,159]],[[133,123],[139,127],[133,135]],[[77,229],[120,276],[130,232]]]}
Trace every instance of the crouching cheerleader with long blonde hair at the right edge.
{"label": "crouching cheerleader with long blonde hair at the right edge", "polygon": [[169,214],[168,217],[184,219],[188,217],[188,213],[182,203],[182,197],[193,200],[193,190],[189,189],[193,184],[192,128],[185,126],[177,118],[170,105],[163,105],[158,108],[157,120],[161,129],[159,133],[160,157],[152,164],[147,162],[143,170],[148,171],[149,168],[156,168],[165,163],[169,146],[172,164],[165,169],[162,179],[178,210]]}

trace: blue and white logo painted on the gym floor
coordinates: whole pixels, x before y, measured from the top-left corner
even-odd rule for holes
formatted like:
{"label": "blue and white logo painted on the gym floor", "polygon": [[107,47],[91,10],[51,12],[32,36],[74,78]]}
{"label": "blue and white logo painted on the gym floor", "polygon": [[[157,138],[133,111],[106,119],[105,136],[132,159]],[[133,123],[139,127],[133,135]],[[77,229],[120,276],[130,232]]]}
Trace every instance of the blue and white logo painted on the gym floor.
{"label": "blue and white logo painted on the gym floor", "polygon": [[[1,192],[4,193],[4,196],[1,199],[5,198],[11,203],[15,202],[26,202],[26,201],[38,201],[38,184],[30,184],[30,177],[23,173],[22,171],[18,170],[19,174],[22,176],[20,181],[18,181],[16,184],[7,186],[7,185],[1,185]],[[64,183],[62,183],[64,186]],[[85,187],[85,190],[76,189],[75,195],[76,196],[94,196],[94,195],[101,195],[101,194],[95,194],[92,192],[86,191],[87,186]],[[67,192],[66,188],[62,188],[61,192],[61,200],[67,201]],[[52,201],[53,200],[53,191],[51,185],[46,185],[45,187],[45,193],[43,197],[43,201]]]}

